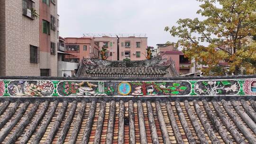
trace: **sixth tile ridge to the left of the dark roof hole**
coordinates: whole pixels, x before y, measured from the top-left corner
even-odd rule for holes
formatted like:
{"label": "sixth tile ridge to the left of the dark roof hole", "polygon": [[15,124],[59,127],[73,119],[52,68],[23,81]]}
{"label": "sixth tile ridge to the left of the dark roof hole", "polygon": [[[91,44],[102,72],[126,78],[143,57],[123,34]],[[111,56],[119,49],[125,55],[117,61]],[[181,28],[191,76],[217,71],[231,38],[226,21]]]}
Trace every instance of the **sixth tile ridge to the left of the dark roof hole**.
{"label": "sixth tile ridge to the left of the dark roof hole", "polygon": [[76,110],[76,106],[77,106],[77,101],[74,100],[72,102],[72,105],[71,105],[71,109],[68,113],[68,116],[67,118],[65,119],[65,122],[64,122],[64,126],[60,132],[60,135],[58,137],[58,140],[57,140],[57,144],[63,144],[64,143],[64,140],[65,140],[65,137],[66,137],[66,134],[70,128],[70,124],[73,120],[73,116],[74,116],[74,113],[75,113],[75,110]]}

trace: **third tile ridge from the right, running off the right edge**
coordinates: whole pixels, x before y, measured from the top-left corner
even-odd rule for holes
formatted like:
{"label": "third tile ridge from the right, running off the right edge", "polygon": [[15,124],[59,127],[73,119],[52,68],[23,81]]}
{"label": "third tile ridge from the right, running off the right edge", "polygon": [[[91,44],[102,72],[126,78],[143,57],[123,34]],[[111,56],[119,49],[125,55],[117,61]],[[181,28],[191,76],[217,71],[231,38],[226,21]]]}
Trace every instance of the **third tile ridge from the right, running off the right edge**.
{"label": "third tile ridge from the right, running off the right edge", "polygon": [[251,128],[251,130],[256,134],[256,124],[255,122],[247,115],[247,113],[242,110],[242,108],[235,102],[231,100],[232,106],[238,112],[239,116],[246,122],[246,124]]}

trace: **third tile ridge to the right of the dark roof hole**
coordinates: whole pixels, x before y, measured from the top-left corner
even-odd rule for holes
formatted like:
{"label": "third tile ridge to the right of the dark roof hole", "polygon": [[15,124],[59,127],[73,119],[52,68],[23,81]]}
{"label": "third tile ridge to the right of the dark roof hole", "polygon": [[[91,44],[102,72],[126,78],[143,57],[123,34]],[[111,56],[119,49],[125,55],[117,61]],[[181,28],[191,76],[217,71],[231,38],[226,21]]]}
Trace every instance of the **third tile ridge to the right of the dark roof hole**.
{"label": "third tile ridge to the right of the dark roof hole", "polygon": [[152,142],[153,142],[153,144],[159,144],[151,102],[146,101],[146,106],[147,106],[146,108],[147,108],[147,113],[148,113],[148,123],[149,123],[149,126],[150,126]]}

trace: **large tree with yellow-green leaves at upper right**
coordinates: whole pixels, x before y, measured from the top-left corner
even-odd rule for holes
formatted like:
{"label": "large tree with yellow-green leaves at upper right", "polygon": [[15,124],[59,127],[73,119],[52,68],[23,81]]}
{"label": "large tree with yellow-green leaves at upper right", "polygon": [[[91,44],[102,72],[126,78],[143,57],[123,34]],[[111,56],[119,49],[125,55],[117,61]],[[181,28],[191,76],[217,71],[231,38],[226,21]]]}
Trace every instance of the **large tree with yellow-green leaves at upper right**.
{"label": "large tree with yellow-green leaves at upper right", "polygon": [[204,20],[179,19],[165,31],[180,38],[190,60],[209,66],[202,70],[208,75],[256,74],[256,0],[198,1]]}

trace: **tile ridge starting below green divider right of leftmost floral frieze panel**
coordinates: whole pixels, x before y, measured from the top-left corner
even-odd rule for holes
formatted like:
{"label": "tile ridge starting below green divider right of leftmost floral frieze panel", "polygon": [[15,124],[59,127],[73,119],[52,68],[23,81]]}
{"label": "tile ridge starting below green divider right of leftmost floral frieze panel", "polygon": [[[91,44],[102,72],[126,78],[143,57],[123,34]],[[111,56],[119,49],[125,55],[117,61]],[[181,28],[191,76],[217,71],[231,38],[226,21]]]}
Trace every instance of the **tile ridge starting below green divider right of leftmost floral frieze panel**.
{"label": "tile ridge starting below green divider right of leftmost floral frieze panel", "polygon": [[39,127],[37,133],[35,134],[35,137],[33,138],[31,144],[38,144],[40,142],[43,134],[46,131],[47,126],[49,125],[52,117],[54,116],[54,113],[56,111],[57,105],[58,105],[58,101],[55,100],[54,103],[51,105],[51,109],[47,113],[43,123],[41,124],[41,126]]}

